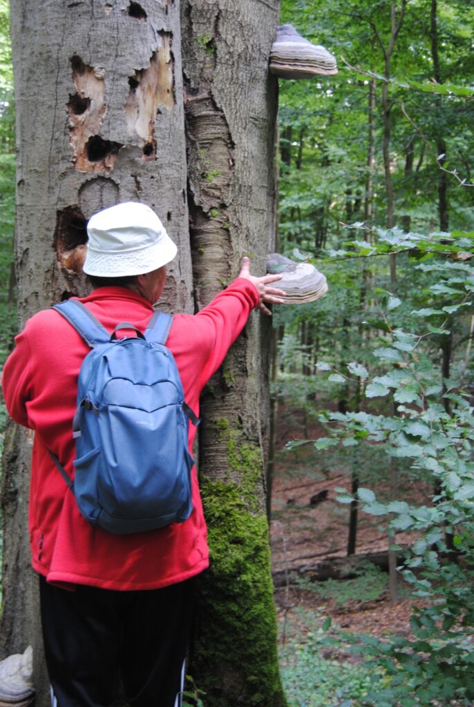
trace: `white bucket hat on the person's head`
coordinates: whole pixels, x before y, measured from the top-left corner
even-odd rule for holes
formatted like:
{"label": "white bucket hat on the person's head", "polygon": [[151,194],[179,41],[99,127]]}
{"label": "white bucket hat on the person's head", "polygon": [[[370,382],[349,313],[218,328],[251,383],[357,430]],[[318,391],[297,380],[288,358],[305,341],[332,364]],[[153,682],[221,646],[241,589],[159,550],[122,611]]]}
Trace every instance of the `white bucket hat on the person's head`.
{"label": "white bucket hat on the person's head", "polygon": [[173,260],[177,247],[155,212],[126,201],[94,214],[83,271],[96,277],[142,275]]}

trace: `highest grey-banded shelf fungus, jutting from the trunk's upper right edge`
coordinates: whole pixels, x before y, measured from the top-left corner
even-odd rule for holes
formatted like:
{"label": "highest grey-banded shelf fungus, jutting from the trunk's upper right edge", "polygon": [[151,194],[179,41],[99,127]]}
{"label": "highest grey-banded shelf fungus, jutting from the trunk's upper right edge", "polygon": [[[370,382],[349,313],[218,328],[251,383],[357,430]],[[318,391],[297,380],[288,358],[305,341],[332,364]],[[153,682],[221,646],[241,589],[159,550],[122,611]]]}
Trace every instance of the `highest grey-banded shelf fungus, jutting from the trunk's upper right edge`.
{"label": "highest grey-banded shelf fungus, jutting from the trunk's upper right edge", "polygon": [[337,62],[328,49],[301,37],[293,25],[279,25],[270,51],[270,73],[279,78],[333,76]]}

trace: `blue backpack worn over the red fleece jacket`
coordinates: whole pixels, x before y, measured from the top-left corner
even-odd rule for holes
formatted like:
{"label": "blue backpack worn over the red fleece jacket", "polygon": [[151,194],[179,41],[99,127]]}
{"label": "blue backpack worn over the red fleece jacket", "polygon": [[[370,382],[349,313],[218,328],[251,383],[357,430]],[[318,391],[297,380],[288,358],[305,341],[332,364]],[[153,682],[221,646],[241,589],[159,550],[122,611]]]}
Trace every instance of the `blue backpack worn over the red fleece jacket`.
{"label": "blue backpack worn over the red fleece jacket", "polygon": [[[74,481],[50,451],[84,518],[115,534],[183,522],[192,511],[183,385],[165,342],[172,317],[155,312],[145,334],[127,322],[112,336],[79,300],[54,305],[91,346],[79,371]],[[120,329],[137,336],[117,339]]]}

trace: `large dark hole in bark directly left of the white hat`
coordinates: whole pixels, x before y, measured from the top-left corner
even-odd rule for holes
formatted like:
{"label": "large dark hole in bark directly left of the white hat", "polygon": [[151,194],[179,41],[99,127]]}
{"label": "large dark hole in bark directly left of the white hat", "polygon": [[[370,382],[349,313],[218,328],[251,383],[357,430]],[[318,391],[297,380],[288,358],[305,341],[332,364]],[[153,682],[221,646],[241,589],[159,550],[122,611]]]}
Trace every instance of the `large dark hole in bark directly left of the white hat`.
{"label": "large dark hole in bark directly left of the white hat", "polygon": [[79,206],[67,206],[57,212],[54,250],[63,267],[81,272],[86,257],[87,221]]}

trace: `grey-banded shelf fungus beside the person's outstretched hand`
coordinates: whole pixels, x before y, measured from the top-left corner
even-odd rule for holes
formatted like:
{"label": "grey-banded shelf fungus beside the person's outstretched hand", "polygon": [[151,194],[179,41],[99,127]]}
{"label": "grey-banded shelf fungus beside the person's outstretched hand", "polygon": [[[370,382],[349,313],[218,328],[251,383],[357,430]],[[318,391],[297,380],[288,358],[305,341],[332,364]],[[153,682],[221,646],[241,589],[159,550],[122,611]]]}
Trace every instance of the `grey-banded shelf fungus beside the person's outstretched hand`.
{"label": "grey-banded shelf fungus beside the person's outstretched hand", "polygon": [[279,253],[267,255],[267,273],[283,276],[276,286],[287,293],[285,304],[313,302],[328,291],[325,276],[314,265],[308,262],[294,262]]}

